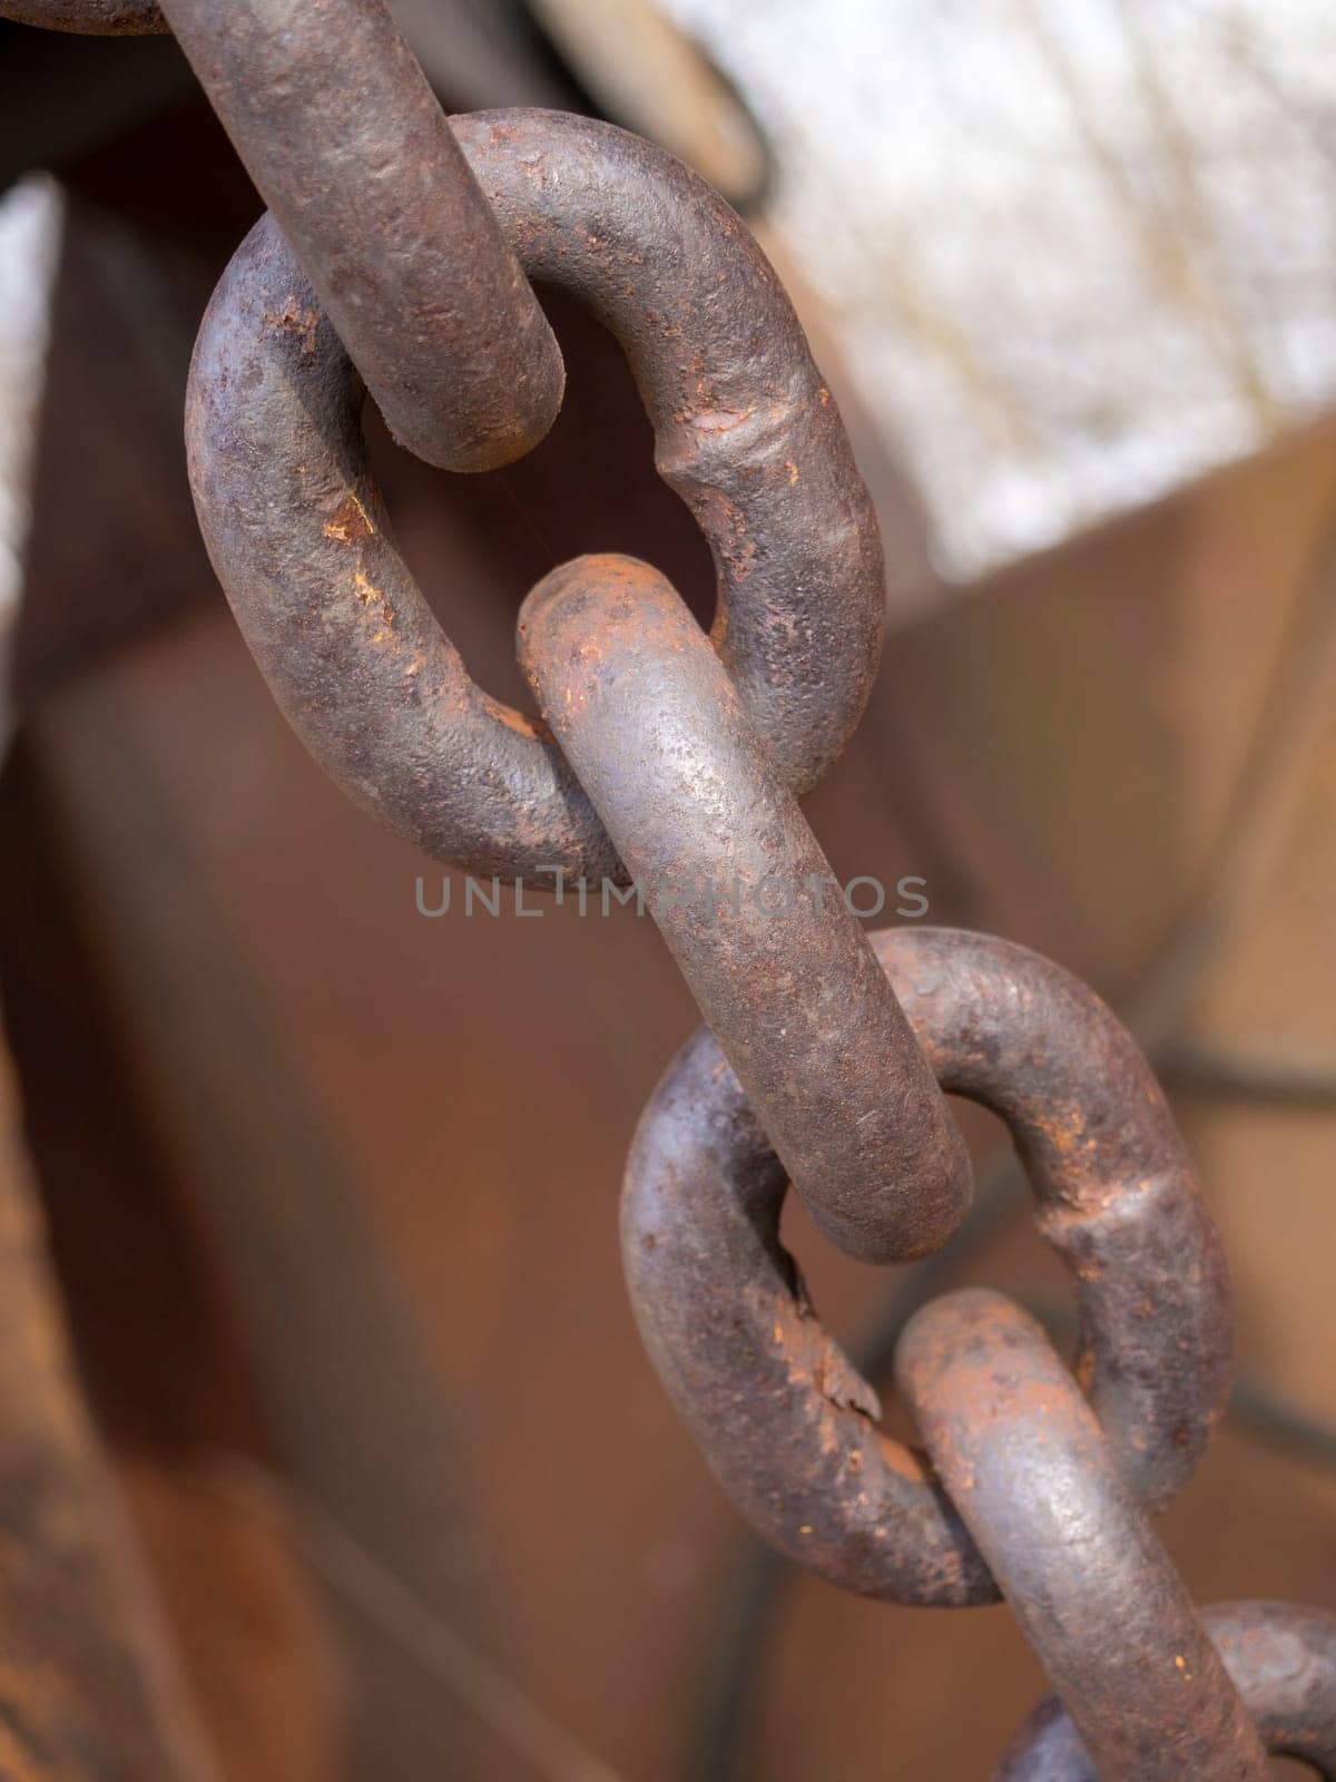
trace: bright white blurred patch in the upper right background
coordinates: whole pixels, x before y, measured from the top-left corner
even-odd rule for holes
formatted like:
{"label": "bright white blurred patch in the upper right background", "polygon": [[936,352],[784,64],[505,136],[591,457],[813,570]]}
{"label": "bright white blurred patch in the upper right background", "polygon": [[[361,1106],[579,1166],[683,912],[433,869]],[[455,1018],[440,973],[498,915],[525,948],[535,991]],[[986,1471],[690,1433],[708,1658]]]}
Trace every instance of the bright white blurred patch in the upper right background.
{"label": "bright white blurred patch in the upper right background", "polygon": [[663,0],[974,574],[1336,392],[1332,0]]}

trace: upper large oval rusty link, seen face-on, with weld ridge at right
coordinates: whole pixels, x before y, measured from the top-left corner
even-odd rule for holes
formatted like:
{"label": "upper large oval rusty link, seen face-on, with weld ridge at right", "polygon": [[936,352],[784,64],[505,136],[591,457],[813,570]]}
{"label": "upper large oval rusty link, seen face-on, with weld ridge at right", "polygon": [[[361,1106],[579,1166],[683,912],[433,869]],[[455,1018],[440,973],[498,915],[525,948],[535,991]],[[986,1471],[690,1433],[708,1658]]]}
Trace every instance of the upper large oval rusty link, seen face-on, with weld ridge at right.
{"label": "upper large oval rusty link, seen face-on, with weld ridge at right", "polygon": [[[709,538],[713,640],[778,777],[805,791],[871,690],[882,547],[830,392],[746,226],[697,175],[559,112],[456,119],[506,239],[622,340],[661,474]],[[369,476],[360,383],[271,219],[196,346],[187,447],[214,567],[322,766],[481,873],[622,868],[543,731],[488,699],[413,584]]]}

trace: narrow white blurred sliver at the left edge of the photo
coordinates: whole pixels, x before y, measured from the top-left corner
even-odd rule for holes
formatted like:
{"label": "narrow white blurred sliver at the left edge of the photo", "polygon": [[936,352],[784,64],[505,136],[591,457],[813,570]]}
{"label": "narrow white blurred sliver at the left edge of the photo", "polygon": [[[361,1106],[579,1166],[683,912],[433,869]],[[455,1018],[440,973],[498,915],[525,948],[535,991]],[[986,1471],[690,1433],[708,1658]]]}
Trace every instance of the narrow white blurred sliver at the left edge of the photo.
{"label": "narrow white blurred sliver at the left edge of the photo", "polygon": [[41,175],[0,196],[0,636],[23,586],[29,486],[37,444],[52,283],[61,244],[61,191]]}

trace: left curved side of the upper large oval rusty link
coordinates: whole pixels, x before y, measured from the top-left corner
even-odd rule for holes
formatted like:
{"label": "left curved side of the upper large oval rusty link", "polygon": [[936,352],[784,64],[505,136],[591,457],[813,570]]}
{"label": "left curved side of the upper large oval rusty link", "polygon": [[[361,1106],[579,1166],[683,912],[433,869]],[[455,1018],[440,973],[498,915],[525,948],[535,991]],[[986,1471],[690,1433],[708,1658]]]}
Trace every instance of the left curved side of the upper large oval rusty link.
{"label": "left curved side of the upper large oval rusty link", "polygon": [[468,675],[390,533],[362,383],[273,217],[194,347],[185,451],[205,545],[271,691],[363,809],[465,871],[622,877],[561,752]]}

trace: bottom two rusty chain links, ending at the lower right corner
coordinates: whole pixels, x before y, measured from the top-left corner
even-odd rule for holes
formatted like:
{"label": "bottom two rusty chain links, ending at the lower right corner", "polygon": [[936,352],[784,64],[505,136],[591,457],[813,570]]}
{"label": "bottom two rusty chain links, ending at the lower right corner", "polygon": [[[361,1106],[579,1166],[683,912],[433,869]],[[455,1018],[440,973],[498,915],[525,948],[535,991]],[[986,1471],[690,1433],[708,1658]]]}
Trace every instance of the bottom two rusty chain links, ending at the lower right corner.
{"label": "bottom two rusty chain links, ending at the lower right corner", "polygon": [[1336,1777],[1336,1616],[1199,1616],[1033,1319],[949,1294],[907,1326],[896,1376],[1056,1689],[994,1782],[1267,1782],[1268,1752]]}

